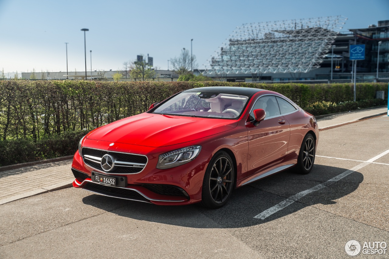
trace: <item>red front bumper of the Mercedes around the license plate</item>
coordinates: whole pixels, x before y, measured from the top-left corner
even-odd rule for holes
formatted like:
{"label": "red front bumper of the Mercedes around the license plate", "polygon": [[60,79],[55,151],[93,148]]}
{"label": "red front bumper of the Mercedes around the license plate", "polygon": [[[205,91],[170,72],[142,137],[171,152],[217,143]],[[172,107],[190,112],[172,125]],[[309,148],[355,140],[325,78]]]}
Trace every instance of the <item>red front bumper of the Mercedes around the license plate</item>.
{"label": "red front bumper of the Mercedes around the license plate", "polygon": [[[165,151],[158,150],[158,153],[163,152]],[[157,205],[186,205],[199,202],[205,169],[212,154],[202,150],[196,159],[185,165],[161,170],[155,167],[158,153],[152,153],[151,155],[144,154],[148,157],[149,162],[140,173],[107,175],[109,177],[125,176],[127,180],[124,187],[110,187],[92,182],[93,172],[100,174],[104,172],[96,171],[86,165],[76,152],[72,164],[72,172],[75,177],[73,186],[105,196]]]}

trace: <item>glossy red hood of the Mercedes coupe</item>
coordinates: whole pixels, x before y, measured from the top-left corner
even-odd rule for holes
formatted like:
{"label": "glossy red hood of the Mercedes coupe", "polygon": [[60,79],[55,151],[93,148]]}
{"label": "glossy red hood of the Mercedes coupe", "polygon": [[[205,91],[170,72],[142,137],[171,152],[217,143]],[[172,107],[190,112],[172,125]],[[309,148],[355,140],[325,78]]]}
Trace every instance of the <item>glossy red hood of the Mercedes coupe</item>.
{"label": "glossy red hood of the Mercedes coupe", "polygon": [[87,138],[164,147],[215,135],[237,125],[237,120],[142,113],[102,126]]}

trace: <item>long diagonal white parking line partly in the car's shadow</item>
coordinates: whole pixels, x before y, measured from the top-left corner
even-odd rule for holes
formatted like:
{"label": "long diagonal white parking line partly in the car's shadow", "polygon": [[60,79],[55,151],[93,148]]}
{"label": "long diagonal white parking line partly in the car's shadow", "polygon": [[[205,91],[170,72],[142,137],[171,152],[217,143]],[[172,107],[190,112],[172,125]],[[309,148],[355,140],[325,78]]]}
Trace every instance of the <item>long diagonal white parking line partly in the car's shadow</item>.
{"label": "long diagonal white parking line partly in the car's shadow", "polygon": [[320,190],[320,189],[322,189],[322,188],[324,188],[326,186],[329,186],[329,185],[333,184],[334,182],[337,182],[338,180],[342,179],[343,177],[346,177],[350,173],[353,173],[356,170],[359,170],[359,169],[363,168],[364,166],[369,165],[370,163],[373,163],[375,160],[377,160],[378,158],[381,158],[382,156],[385,156],[386,154],[389,154],[389,150],[387,150],[385,152],[382,152],[378,156],[375,156],[374,158],[371,158],[368,161],[364,161],[363,163],[361,163],[361,164],[359,164],[357,166],[354,166],[350,170],[347,170],[346,172],[343,172],[340,175],[335,176],[334,178],[329,179],[328,181],[326,181],[326,182],[324,182],[322,184],[318,184],[317,186],[314,186],[314,187],[312,187],[312,188],[310,188],[308,190],[302,191],[302,192],[300,192],[298,194],[294,194],[293,196],[287,198],[286,200],[281,201],[277,205],[275,205],[275,206],[273,206],[271,208],[268,208],[264,212],[261,212],[260,214],[256,215],[254,217],[254,219],[266,219],[270,215],[278,212],[279,210],[282,210],[283,208],[286,208],[287,206],[289,206],[292,203],[294,203],[295,201],[301,199],[305,195],[307,195],[309,193],[312,193],[314,191]]}

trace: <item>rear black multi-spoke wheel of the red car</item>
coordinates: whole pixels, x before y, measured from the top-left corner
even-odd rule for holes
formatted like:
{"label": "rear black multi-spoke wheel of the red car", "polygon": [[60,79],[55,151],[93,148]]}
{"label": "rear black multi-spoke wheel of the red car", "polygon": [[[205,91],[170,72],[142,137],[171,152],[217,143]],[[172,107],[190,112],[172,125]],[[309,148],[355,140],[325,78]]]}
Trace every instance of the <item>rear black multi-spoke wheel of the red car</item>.
{"label": "rear black multi-spoke wheel of the red car", "polygon": [[297,165],[294,167],[295,173],[307,174],[311,172],[315,162],[315,139],[312,134],[307,134],[301,144],[298,154]]}

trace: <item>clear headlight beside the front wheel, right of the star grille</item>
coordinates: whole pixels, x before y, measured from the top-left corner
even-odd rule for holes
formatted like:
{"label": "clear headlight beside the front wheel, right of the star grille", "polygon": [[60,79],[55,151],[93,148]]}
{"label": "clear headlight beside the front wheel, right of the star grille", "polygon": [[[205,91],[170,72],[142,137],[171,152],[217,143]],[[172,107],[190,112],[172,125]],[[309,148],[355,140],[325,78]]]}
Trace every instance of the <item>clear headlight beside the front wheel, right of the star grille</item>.
{"label": "clear headlight beside the front wheel, right of the star grille", "polygon": [[201,146],[190,146],[159,155],[157,168],[166,169],[184,165],[195,159],[200,154]]}

